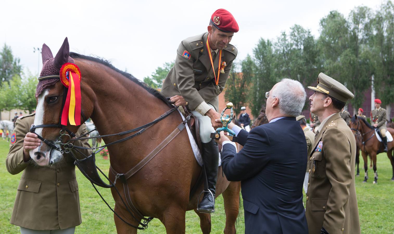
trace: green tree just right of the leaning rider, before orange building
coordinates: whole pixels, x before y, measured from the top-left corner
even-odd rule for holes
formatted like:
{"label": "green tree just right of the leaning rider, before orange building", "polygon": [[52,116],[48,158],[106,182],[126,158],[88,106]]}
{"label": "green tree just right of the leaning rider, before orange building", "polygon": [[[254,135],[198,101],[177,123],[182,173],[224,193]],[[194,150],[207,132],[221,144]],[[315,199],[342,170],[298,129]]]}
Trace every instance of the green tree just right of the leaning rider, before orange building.
{"label": "green tree just right of the leaning rider, before orange building", "polygon": [[255,73],[255,63],[249,54],[241,61],[242,72],[236,72],[236,64],[233,62],[226,82],[225,100],[232,102],[235,116],[241,111],[241,107],[247,103],[247,93],[250,82]]}

